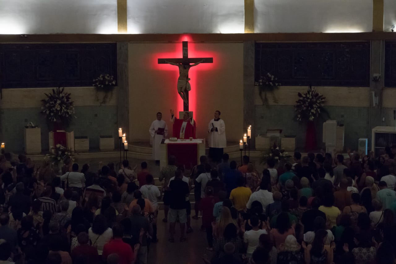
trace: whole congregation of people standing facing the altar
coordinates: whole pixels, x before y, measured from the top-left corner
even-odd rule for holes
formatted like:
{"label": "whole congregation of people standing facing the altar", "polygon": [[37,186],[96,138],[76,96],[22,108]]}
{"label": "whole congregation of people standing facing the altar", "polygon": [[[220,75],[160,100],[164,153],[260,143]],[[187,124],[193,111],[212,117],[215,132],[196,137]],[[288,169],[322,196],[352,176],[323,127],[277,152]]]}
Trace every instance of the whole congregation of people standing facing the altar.
{"label": "whole congregation of people standing facing the altar", "polygon": [[47,161],[5,153],[0,264],[146,264],[153,243],[177,247],[201,231],[205,263],[394,264],[395,154],[295,152],[293,162],[269,158],[262,173],[247,156],[239,166],[227,153],[217,164],[202,156],[190,170],[172,156],[153,176],[127,160],[97,172],[69,162],[57,175]]}

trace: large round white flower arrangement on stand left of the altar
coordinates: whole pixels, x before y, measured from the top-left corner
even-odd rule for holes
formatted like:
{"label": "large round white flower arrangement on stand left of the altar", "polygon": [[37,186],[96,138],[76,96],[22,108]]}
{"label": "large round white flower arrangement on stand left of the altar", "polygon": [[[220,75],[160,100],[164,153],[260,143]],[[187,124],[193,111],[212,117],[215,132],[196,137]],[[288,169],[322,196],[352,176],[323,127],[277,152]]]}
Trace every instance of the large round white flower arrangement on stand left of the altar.
{"label": "large round white flower arrangement on stand left of the altar", "polygon": [[74,115],[74,102],[70,100],[70,93],[66,93],[65,88],[52,89],[52,94],[47,94],[46,99],[42,99],[42,111],[51,122],[61,122],[68,124]]}

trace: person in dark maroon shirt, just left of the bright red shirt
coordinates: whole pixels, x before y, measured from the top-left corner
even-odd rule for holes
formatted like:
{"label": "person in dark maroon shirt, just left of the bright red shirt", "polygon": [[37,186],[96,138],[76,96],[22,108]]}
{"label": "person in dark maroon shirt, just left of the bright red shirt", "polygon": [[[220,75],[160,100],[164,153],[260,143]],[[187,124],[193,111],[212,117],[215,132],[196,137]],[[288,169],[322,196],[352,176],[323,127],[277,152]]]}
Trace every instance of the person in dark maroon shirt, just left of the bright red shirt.
{"label": "person in dark maroon shirt, just left of the bright red shirt", "polygon": [[72,250],[72,260],[76,262],[76,259],[80,256],[85,258],[85,263],[96,264],[99,263],[99,254],[95,247],[88,245],[89,237],[86,232],[81,232],[77,236],[78,245]]}

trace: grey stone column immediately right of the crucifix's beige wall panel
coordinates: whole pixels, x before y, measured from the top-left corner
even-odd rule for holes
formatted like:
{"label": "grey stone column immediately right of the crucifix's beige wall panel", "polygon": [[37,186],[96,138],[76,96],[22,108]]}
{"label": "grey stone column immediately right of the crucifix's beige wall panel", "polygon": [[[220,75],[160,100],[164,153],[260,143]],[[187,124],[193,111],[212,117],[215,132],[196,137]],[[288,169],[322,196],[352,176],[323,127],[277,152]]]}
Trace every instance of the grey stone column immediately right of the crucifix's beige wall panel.
{"label": "grey stone column immediately right of the crucifix's beige wall panel", "polygon": [[[252,125],[250,149],[255,149],[255,105],[254,105],[254,52],[255,42],[244,42],[244,125],[242,131],[246,133],[247,126]],[[242,134],[241,134],[242,138]]]}

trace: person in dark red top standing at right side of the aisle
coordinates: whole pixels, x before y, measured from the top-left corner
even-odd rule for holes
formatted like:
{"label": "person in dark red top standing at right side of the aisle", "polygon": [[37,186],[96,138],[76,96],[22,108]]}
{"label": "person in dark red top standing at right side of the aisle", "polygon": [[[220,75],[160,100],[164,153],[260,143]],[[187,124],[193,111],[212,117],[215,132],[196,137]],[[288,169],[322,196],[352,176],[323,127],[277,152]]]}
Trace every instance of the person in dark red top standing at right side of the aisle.
{"label": "person in dark red top standing at right side of the aisle", "polygon": [[206,187],[205,197],[200,201],[200,210],[202,211],[202,226],[206,230],[206,239],[208,240],[208,245],[206,249],[213,251],[213,208],[215,203],[219,202],[219,198],[213,195],[213,187]]}

